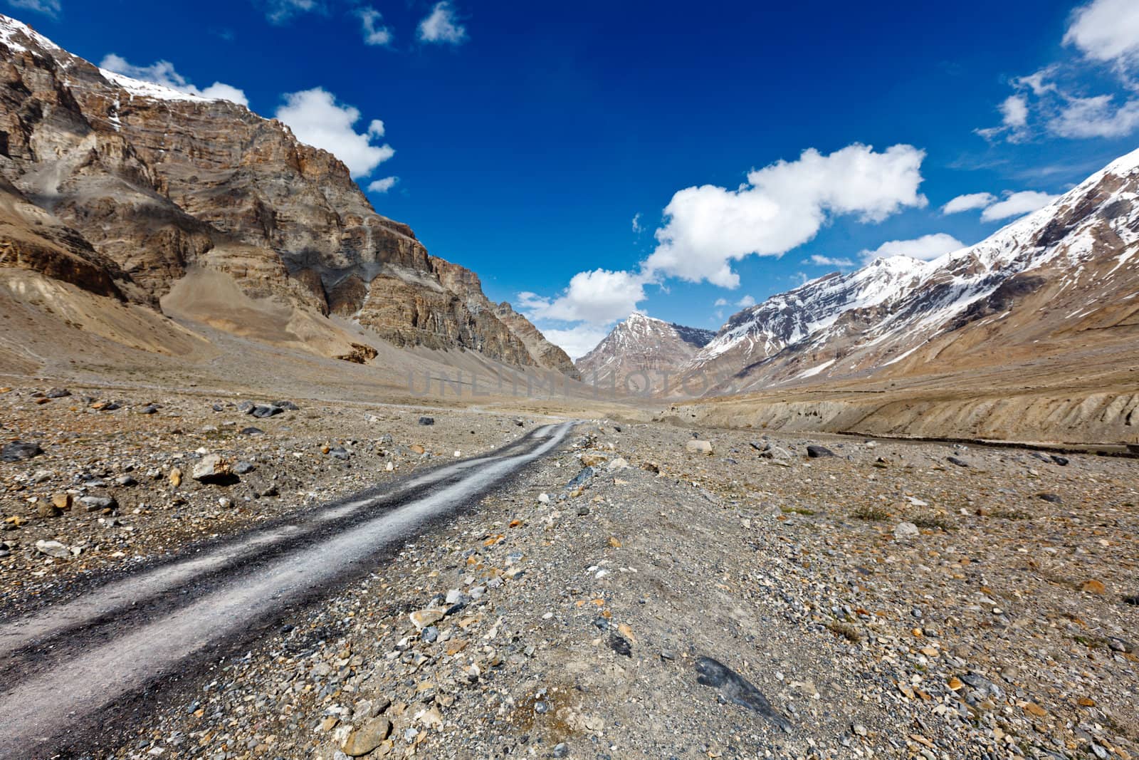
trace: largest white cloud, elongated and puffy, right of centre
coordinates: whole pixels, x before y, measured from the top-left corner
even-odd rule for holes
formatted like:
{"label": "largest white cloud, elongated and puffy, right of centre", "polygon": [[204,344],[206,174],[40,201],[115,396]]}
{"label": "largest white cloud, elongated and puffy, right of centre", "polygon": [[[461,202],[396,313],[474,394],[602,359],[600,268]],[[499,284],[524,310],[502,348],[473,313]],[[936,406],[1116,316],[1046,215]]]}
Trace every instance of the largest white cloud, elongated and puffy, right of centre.
{"label": "largest white cloud, elongated and puffy, right of centre", "polygon": [[753,170],[736,190],[712,185],[680,190],[664,210],[666,223],[656,230],[657,247],[644,270],[736,287],[731,261],[781,255],[813,238],[833,216],[877,222],[926,205],[918,193],[924,157],[910,145],[874,153],[855,144],[827,156],[811,148],[797,161]]}

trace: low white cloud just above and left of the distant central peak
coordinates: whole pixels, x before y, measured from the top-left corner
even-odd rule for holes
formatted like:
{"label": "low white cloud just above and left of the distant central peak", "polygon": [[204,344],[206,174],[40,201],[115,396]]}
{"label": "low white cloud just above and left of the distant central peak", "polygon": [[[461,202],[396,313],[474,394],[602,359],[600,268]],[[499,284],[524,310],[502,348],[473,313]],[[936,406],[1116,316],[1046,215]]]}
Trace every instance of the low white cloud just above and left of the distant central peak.
{"label": "low white cloud just above and left of the distant central peak", "polygon": [[577,272],[556,299],[519,293],[518,305],[530,319],[558,319],[605,325],[624,319],[645,300],[646,279],[626,271]]}

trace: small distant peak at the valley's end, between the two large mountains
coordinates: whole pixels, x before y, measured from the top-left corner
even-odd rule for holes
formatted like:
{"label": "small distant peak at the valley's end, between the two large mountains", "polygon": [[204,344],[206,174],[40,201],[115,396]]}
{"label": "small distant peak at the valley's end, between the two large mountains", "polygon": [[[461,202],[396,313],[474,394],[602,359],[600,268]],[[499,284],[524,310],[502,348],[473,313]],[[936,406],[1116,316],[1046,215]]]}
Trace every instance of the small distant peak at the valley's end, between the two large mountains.
{"label": "small distant peak at the valley's end, between the two large mountains", "polygon": [[[632,313],[575,365],[590,385],[673,392],[666,375],[685,366],[714,333]],[[647,378],[647,379],[646,379]]]}

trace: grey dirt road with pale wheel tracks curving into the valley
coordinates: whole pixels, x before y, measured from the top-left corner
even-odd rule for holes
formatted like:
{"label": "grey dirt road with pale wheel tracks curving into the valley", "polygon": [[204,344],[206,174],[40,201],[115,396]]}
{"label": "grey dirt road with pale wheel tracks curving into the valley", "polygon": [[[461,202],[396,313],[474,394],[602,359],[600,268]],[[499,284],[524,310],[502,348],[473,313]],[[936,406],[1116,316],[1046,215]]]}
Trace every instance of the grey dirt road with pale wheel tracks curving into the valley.
{"label": "grey dirt road with pale wheel tracks curving into the valley", "polygon": [[124,697],[374,571],[392,548],[476,504],[571,428],[536,428],[491,455],[298,513],[0,621],[0,757],[47,757],[79,733],[98,732]]}

